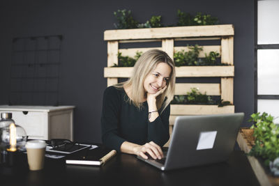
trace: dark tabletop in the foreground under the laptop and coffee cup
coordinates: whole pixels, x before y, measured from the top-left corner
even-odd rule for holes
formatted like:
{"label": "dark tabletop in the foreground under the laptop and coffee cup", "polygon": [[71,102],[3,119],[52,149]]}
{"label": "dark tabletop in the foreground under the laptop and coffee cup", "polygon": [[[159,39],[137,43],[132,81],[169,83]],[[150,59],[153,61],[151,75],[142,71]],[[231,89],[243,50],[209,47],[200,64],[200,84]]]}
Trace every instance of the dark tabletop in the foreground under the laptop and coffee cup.
{"label": "dark tabletop in the foreground under the laptop and coffee cup", "polygon": [[13,171],[1,173],[0,185],[259,185],[243,151],[234,151],[227,162],[167,172],[127,154],[100,167],[64,161],[47,159],[45,169],[29,171],[25,155]]}

